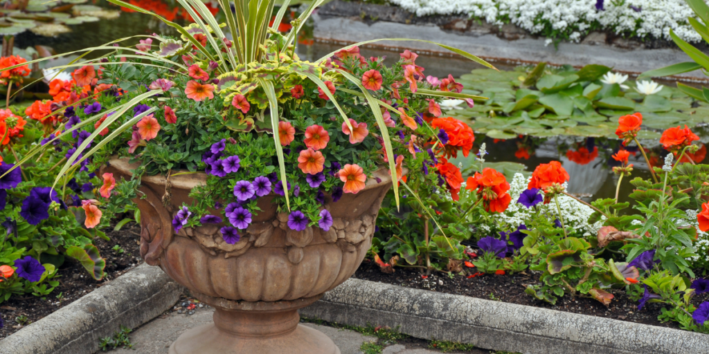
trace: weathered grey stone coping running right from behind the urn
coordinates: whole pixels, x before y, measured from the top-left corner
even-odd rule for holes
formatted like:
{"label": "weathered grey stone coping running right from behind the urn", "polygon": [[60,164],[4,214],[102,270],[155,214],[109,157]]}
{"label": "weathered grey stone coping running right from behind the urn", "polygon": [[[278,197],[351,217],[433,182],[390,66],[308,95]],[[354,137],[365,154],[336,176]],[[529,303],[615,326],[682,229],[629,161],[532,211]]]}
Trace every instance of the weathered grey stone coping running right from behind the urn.
{"label": "weathered grey stone coping running right from behind the urn", "polygon": [[351,278],[301,315],[525,354],[706,354],[709,335]]}

